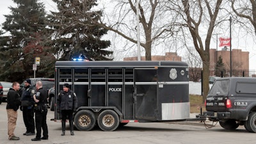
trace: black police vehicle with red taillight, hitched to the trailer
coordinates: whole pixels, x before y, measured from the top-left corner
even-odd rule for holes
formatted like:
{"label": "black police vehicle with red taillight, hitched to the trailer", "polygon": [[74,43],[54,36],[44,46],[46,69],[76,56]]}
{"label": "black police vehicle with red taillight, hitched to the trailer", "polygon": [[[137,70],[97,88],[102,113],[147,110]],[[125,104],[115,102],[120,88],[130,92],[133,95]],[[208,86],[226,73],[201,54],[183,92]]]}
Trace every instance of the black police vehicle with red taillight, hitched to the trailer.
{"label": "black police vehicle with red taillight, hitched to the trailer", "polygon": [[204,116],[219,121],[224,129],[244,125],[256,132],[256,78],[223,77],[216,79],[205,100]]}

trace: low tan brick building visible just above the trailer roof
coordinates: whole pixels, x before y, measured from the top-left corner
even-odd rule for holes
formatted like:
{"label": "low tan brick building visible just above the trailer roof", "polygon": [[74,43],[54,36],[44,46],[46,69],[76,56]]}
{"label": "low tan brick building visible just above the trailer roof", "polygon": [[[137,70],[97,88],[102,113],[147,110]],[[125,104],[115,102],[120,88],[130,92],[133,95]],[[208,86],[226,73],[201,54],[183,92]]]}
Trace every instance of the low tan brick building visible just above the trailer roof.
{"label": "low tan brick building visible just above the trailer roof", "polygon": [[[124,58],[124,61],[137,61],[138,57]],[[152,61],[181,61],[177,52],[166,52],[165,56],[151,56]],[[145,56],[141,56],[141,61],[145,61]]]}

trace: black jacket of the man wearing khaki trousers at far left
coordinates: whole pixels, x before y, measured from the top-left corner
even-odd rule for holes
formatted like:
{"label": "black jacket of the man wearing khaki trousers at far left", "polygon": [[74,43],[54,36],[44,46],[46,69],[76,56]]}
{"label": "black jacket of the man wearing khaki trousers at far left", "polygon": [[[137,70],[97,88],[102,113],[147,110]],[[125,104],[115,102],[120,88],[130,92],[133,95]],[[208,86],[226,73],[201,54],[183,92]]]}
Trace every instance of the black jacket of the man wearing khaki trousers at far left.
{"label": "black jacket of the man wearing khaki trousers at far left", "polygon": [[9,92],[7,93],[7,105],[6,109],[13,109],[17,111],[20,106],[20,95],[17,93],[13,88],[10,88]]}

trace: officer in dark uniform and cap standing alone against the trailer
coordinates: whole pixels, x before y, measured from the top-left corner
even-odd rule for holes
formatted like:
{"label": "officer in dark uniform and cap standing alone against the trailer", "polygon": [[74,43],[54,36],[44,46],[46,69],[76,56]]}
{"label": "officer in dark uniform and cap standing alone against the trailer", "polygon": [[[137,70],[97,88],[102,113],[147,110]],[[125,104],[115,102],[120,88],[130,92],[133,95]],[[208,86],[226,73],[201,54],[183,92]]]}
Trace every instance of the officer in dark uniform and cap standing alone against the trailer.
{"label": "officer in dark uniform and cap standing alone against the trailer", "polygon": [[74,136],[73,112],[76,112],[77,109],[77,97],[76,93],[72,92],[69,88],[70,86],[68,83],[63,84],[63,91],[59,93],[57,98],[57,112],[61,112],[62,115],[61,136],[65,135],[67,116],[69,120],[70,134]]}

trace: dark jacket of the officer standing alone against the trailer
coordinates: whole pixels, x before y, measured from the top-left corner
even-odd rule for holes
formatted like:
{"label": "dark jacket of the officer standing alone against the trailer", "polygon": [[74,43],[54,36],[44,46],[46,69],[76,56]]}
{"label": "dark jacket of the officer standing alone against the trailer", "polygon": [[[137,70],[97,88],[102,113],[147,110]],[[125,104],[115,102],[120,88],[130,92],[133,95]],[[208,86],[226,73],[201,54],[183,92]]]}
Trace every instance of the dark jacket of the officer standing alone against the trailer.
{"label": "dark jacket of the officer standing alone against the trailer", "polygon": [[68,92],[61,91],[57,99],[57,110],[76,110],[77,97],[76,93],[68,90]]}

